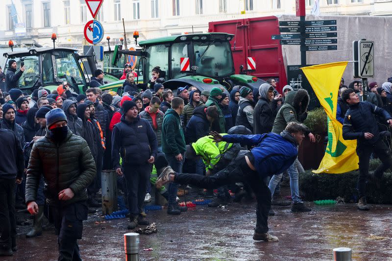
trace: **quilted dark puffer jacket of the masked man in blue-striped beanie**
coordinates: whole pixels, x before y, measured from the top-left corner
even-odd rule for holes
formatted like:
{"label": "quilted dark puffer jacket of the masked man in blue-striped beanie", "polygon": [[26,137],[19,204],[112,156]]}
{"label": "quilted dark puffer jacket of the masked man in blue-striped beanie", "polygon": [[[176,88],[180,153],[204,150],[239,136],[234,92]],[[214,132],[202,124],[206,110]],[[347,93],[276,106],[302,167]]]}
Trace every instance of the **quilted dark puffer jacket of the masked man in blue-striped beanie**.
{"label": "quilted dark puffer jacket of the masked man in blue-striped beanie", "polygon": [[[41,175],[49,205],[66,206],[87,200],[87,187],[94,180],[97,168],[89,146],[83,138],[68,132],[64,142],[57,144],[49,133],[34,143],[26,178],[26,203],[35,201]],[[70,188],[75,194],[70,200],[58,200],[61,190]]]}

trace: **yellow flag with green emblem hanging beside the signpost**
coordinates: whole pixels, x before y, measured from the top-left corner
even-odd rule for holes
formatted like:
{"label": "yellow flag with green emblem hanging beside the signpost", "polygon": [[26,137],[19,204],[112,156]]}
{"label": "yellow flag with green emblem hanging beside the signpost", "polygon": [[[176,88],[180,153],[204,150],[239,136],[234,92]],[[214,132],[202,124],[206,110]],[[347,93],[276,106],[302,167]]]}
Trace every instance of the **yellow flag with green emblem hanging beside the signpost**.
{"label": "yellow flag with green emblem hanging beside the signpost", "polygon": [[328,144],[315,173],[339,174],[358,169],[357,141],[343,140],[343,125],[336,119],[339,85],[347,63],[301,68],[328,116]]}

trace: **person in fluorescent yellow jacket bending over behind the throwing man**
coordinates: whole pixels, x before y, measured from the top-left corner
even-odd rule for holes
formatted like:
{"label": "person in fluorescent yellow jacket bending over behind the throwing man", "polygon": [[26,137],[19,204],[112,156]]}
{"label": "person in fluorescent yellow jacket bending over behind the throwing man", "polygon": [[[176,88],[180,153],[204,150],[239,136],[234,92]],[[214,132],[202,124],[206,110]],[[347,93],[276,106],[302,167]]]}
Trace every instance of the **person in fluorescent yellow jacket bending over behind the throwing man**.
{"label": "person in fluorescent yellow jacket bending over behind the throwing man", "polygon": [[[226,135],[221,133],[221,135]],[[185,158],[192,160],[201,157],[206,166],[206,175],[215,174],[227,166],[238,154],[239,143],[214,142],[209,136],[201,137],[186,146]],[[227,186],[218,188],[218,197],[208,204],[209,207],[227,205],[230,200]]]}

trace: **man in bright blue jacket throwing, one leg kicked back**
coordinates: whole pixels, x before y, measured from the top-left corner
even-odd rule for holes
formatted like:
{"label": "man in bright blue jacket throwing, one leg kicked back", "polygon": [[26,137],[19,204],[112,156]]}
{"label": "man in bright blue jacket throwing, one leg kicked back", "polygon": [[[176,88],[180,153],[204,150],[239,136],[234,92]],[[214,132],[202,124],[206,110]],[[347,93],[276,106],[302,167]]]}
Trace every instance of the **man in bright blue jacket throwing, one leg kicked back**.
{"label": "man in bright blue jacket throwing, one leg kicked back", "polygon": [[224,135],[213,131],[211,139],[215,142],[242,143],[255,146],[247,153],[238,156],[224,169],[213,176],[177,173],[166,167],[159,176],[156,186],[168,182],[191,184],[205,189],[218,188],[237,181],[246,182],[256,195],[256,228],[253,239],[278,241],[268,233],[268,212],[271,207],[271,192],[264,179],[274,173],[280,173],[291,166],[298,154],[297,146],[301,144],[306,127],[290,122],[280,134],[266,133],[257,135]]}

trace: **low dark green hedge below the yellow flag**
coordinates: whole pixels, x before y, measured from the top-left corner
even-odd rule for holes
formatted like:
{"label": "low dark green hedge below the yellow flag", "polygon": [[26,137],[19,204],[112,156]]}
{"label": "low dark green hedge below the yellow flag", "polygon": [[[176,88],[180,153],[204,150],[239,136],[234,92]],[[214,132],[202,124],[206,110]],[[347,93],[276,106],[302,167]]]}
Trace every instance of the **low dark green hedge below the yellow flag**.
{"label": "low dark green hedge below the yellow flag", "polygon": [[[381,163],[371,160],[369,171],[374,170]],[[343,197],[345,202],[358,201],[358,170],[343,174],[315,174],[306,170],[299,174],[299,189],[302,198],[307,201],[336,199]],[[367,200],[372,204],[392,204],[392,173],[384,173],[381,187],[377,190],[371,181],[367,186]]]}

